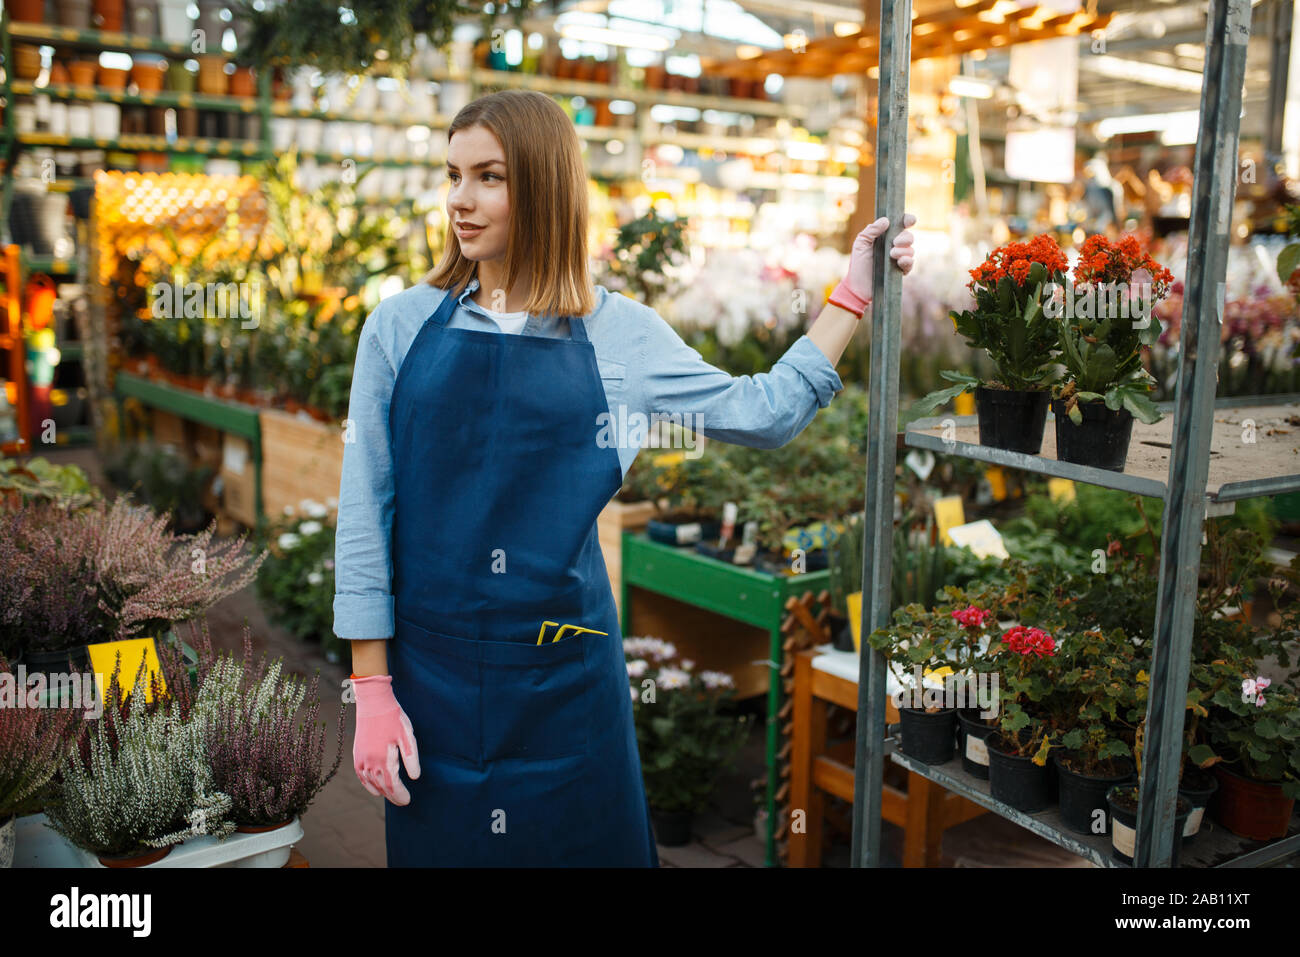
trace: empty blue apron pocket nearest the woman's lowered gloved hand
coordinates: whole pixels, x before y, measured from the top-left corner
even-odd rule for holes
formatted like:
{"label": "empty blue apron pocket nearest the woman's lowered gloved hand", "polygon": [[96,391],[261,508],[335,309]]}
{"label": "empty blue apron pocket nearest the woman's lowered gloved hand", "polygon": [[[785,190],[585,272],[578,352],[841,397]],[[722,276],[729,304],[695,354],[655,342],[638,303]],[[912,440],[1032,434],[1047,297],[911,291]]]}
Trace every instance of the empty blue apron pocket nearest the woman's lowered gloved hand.
{"label": "empty blue apron pocket nearest the woman's lowered gloved hand", "polygon": [[480,763],[478,642],[438,635],[400,616],[394,625],[393,693],[411,718],[421,757],[432,753]]}

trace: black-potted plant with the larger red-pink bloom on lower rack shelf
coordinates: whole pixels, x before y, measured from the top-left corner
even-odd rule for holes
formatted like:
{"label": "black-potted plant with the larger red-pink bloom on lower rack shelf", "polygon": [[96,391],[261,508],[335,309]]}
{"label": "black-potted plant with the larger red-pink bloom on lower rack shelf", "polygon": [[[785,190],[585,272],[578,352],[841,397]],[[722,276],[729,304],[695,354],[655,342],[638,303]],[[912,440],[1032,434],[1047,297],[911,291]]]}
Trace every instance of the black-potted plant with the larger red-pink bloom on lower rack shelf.
{"label": "black-potted plant with the larger red-pink bloom on lower rack shelf", "polygon": [[1048,755],[1052,750],[1046,700],[1060,668],[1056,638],[1041,628],[1013,625],[988,648],[1001,674],[998,731],[984,739],[988,787],[994,800],[1034,814],[1052,804]]}

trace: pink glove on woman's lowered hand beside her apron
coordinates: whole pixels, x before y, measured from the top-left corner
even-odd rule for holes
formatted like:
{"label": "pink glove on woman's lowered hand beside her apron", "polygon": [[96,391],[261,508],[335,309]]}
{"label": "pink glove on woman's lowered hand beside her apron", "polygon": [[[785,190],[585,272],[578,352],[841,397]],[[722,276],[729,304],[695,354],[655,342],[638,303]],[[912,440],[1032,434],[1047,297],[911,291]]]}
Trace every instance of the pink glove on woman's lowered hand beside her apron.
{"label": "pink glove on woman's lowered hand beside her apron", "polygon": [[411,719],[393,697],[393,676],[354,676],[352,693],[356,696],[356,737],[352,741],[356,776],[376,797],[382,794],[398,806],[411,804],[411,792],[398,776],[398,752],[411,780],[420,776],[420,754]]}

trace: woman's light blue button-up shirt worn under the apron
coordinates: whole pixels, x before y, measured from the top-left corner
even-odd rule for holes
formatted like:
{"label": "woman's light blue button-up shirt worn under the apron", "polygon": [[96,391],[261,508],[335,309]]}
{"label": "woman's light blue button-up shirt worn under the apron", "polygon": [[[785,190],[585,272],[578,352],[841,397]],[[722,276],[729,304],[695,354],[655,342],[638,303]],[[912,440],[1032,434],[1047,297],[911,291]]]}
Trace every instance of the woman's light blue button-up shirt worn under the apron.
{"label": "woman's light blue button-up shirt worn under the apron", "polygon": [[[477,289],[478,280],[472,280],[447,325],[504,334],[469,299]],[[584,322],[608,403],[608,416],[598,423],[608,428],[597,441],[618,449],[623,475],[656,416],[672,416],[671,421],[722,442],[779,449],[844,387],[807,335],[770,372],[732,376],[706,363],[650,307],[604,286],[594,290],[595,308]],[[445,295],[446,290],[416,283],[384,299],[361,329],[344,423],[334,545],[334,633],[341,638],[393,636],[389,403],[411,342]],[[568,320],[529,315],[519,334],[567,338]]]}

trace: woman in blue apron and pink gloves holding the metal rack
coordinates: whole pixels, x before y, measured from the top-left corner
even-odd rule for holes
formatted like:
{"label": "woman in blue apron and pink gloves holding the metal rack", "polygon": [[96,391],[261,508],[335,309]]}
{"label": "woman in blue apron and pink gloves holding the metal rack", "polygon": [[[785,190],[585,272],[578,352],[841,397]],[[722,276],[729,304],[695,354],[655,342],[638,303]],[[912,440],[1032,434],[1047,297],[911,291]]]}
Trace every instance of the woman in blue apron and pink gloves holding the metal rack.
{"label": "woman in blue apron and pink gloves holding the metal rack", "polygon": [[[792,439],[842,387],[888,222],[854,243],[840,306],[733,378],[592,287],[586,172],[554,100],[491,94],[447,135],[447,251],[367,319],[344,432],[334,632],[356,775],[389,801],[389,866],[656,866],[595,531],[638,451],[607,441],[610,416]],[[905,272],[910,243],[892,250]]]}

